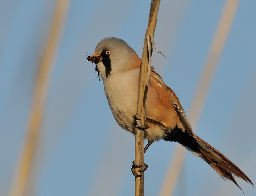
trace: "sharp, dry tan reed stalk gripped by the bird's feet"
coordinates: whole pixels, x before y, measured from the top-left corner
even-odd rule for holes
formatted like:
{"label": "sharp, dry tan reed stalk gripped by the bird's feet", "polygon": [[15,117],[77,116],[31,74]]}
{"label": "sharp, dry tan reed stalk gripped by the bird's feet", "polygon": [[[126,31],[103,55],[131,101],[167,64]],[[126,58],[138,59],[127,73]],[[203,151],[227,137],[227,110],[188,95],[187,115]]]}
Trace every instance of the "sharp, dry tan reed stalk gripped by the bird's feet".
{"label": "sharp, dry tan reed stalk gripped by the bird's feet", "polygon": [[[150,70],[150,57],[152,50],[152,42],[149,39],[153,37],[155,33],[155,26],[157,22],[157,13],[159,9],[160,0],[152,0],[151,8],[149,14],[148,28],[146,30],[144,47],[142,53],[142,63],[140,68],[140,83],[139,83],[139,92],[138,92],[138,108],[137,108],[137,117],[141,119],[141,124],[143,127],[146,127],[145,122],[145,110],[146,110],[146,99],[147,99],[147,83],[148,83],[148,70]],[[135,164],[144,165],[144,132],[136,128],[135,134]],[[144,175],[143,172],[138,172],[138,168],[135,169],[135,172],[141,177],[135,177],[135,195],[143,196],[144,195]]]}

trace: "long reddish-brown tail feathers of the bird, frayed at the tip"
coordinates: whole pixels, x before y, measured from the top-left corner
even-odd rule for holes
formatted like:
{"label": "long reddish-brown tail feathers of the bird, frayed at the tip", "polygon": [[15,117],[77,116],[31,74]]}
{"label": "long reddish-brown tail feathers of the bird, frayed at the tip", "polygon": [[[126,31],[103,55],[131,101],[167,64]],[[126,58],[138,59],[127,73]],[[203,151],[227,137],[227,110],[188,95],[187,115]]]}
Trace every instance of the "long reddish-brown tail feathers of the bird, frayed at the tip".
{"label": "long reddish-brown tail feathers of the bird, frayed at the tip", "polygon": [[[193,147],[191,145],[187,146],[186,144],[182,144],[183,146],[187,146],[191,148],[192,151],[198,153],[198,155],[204,159],[218,174],[224,179],[231,180],[234,182],[240,189],[241,187],[235,181],[234,176],[245,180],[248,183],[253,183],[251,180],[229,159],[227,159],[220,151],[216,150],[210,144],[199,138],[197,135],[190,136],[192,140],[194,140],[197,146]],[[194,143],[194,142],[192,142]],[[253,185],[254,186],[254,185]],[[241,189],[242,190],[242,189]],[[243,190],[242,190],[243,191]]]}

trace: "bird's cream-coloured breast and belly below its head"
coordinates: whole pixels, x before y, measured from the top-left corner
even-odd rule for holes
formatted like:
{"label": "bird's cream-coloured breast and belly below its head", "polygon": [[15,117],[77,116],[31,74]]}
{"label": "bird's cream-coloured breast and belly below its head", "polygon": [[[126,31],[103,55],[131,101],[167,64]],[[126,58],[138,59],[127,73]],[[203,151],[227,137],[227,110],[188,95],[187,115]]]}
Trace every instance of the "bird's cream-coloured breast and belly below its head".
{"label": "bird's cream-coloured breast and belly below its head", "polygon": [[[109,81],[104,83],[104,89],[110,109],[118,125],[135,134],[133,116],[137,113],[138,81],[130,78],[124,81],[124,79],[126,79],[125,76],[119,78],[110,76]],[[148,125],[149,129],[144,130],[145,139],[158,141],[165,136],[166,131],[158,124],[148,122]]]}

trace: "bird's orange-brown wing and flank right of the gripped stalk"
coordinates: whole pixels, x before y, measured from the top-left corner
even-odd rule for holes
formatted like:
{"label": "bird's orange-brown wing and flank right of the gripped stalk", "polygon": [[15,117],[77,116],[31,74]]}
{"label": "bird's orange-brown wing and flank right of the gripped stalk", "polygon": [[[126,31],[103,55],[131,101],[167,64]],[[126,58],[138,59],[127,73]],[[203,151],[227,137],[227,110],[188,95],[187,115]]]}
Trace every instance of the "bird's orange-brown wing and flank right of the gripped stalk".
{"label": "bird's orange-brown wing and flank right of the gripped stalk", "polygon": [[191,136],[194,135],[179,98],[153,67],[149,77],[148,94],[147,117],[170,129],[178,126],[184,128]]}

